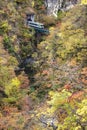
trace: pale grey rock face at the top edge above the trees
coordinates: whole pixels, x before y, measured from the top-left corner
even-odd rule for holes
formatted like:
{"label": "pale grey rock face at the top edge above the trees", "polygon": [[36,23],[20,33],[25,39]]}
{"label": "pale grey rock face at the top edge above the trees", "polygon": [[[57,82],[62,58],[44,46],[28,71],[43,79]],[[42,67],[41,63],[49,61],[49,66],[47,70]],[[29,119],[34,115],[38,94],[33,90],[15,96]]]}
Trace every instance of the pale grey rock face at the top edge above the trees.
{"label": "pale grey rock face at the top edge above the trees", "polygon": [[45,0],[47,14],[57,17],[59,10],[68,10],[75,6],[80,0]]}

